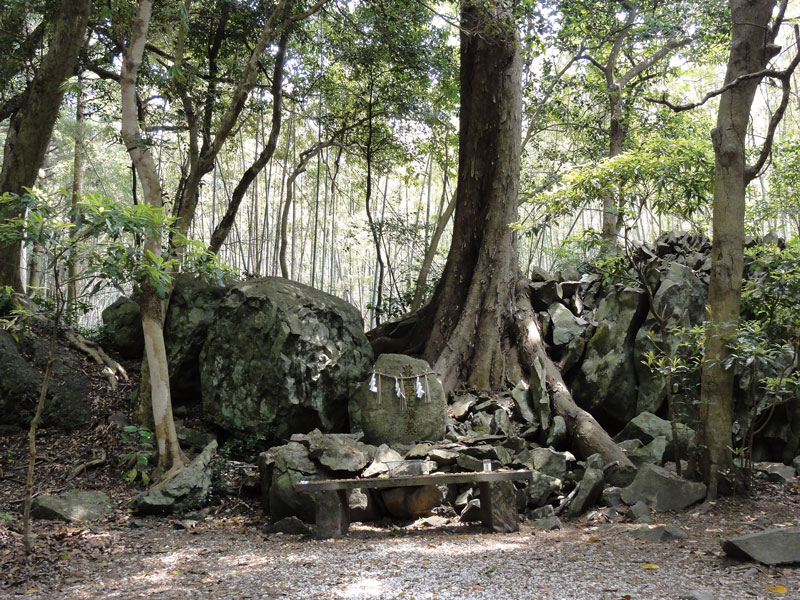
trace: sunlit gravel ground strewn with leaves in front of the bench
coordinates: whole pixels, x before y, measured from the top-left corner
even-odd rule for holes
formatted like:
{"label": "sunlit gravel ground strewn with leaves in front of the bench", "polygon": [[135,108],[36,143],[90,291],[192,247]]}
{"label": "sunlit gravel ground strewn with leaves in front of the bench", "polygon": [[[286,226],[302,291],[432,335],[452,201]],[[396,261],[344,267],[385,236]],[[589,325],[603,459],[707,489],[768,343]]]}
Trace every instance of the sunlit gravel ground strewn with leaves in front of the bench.
{"label": "sunlit gravel ground strewn with leaves in front of the bench", "polygon": [[[457,522],[354,524],[348,537],[320,541],[267,535],[242,516],[176,530],[155,518],[133,527],[123,513],[89,529],[58,526],[47,552],[0,573],[0,596],[673,600],[700,590],[715,600],[800,599],[800,566],[764,567],[720,551],[723,537],[800,526],[800,484],[757,487],[705,511],[657,515],[689,534],[666,544],[632,538],[630,523],[587,518],[551,532],[523,523],[514,534]],[[6,550],[21,551],[18,537],[0,529]]]}

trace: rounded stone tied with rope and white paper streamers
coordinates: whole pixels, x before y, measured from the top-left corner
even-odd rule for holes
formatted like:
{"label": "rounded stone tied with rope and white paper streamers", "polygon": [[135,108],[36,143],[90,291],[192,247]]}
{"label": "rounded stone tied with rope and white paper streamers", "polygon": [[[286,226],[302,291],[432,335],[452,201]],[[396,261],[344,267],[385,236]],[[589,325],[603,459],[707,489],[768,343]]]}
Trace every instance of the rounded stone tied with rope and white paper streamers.
{"label": "rounded stone tied with rope and white paper streamers", "polygon": [[[356,387],[350,398],[353,431],[363,431],[365,441],[370,444],[444,439],[447,401],[442,384],[431,373],[428,363],[402,354],[382,354],[375,362],[374,372],[377,391],[370,390],[367,380]],[[417,375],[425,391],[422,398],[416,395]],[[405,379],[396,382],[395,377]],[[396,385],[402,387],[405,399],[398,397]],[[488,421],[486,425],[488,428]]]}

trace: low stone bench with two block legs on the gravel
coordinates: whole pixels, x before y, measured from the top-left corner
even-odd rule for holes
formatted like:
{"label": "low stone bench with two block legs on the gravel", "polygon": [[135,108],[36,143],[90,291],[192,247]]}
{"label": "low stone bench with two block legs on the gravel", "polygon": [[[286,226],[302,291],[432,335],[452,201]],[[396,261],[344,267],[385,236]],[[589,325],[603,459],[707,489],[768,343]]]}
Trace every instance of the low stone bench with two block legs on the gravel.
{"label": "low stone bench with two block legs on the gravel", "polygon": [[481,521],[493,532],[519,531],[516,490],[512,481],[530,480],[533,471],[480,471],[476,473],[432,473],[377,479],[325,479],[300,481],[298,492],[314,494],[317,506],[317,537],[342,537],[350,527],[350,492],[354,489],[385,489],[408,486],[477,483],[481,492]]}

